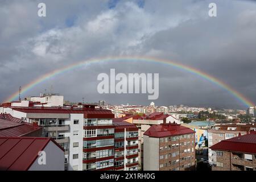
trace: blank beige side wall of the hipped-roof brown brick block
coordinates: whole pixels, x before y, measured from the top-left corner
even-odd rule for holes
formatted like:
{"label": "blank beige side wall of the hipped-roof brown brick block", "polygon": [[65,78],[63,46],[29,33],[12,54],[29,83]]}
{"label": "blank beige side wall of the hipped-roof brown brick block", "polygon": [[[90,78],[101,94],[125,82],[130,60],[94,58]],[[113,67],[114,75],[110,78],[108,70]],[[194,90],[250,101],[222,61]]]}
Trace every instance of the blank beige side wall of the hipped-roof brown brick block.
{"label": "blank beige side wall of the hipped-roof brown brick block", "polygon": [[159,171],[159,139],[144,135],[143,171]]}

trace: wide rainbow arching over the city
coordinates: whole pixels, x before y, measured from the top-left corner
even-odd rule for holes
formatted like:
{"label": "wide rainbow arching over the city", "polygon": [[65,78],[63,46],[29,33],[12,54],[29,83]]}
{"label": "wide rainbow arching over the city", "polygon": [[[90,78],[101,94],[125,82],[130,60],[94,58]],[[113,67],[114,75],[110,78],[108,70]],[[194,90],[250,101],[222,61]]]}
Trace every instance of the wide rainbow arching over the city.
{"label": "wide rainbow arching over the city", "polygon": [[[40,83],[48,80],[49,78],[60,75],[61,73],[71,71],[73,69],[76,69],[76,68],[79,68],[79,67],[82,67],[85,65],[89,65],[89,64],[93,64],[93,63],[105,63],[108,61],[127,61],[127,62],[129,62],[129,61],[146,61],[146,62],[151,62],[151,63],[162,63],[162,64],[166,64],[166,65],[171,65],[172,67],[179,68],[179,69],[182,69],[189,73],[192,73],[194,75],[200,76],[200,77],[204,78],[205,80],[208,80],[208,81],[212,82],[213,84],[220,86],[221,88],[228,91],[233,97],[235,97],[238,101],[240,101],[246,107],[255,106],[255,104],[253,102],[248,100],[241,93],[237,92],[237,90],[231,88],[229,85],[225,84],[221,80],[218,80],[216,77],[210,76],[208,73],[202,72],[199,69],[192,68],[188,65],[175,63],[174,61],[171,61],[171,60],[158,59],[158,58],[156,59],[156,58],[152,58],[152,57],[126,57],[126,56],[105,57],[103,59],[90,59],[90,60],[81,61],[79,63],[70,64],[63,68],[55,69],[51,72],[48,72],[45,75],[40,76],[40,77],[36,78],[35,80],[31,81],[27,85],[22,86],[21,94],[26,93],[28,90],[34,88],[36,85],[39,85]],[[15,92],[10,97],[8,97],[5,100],[5,102],[14,101],[18,98],[18,96],[19,96],[19,92]]]}

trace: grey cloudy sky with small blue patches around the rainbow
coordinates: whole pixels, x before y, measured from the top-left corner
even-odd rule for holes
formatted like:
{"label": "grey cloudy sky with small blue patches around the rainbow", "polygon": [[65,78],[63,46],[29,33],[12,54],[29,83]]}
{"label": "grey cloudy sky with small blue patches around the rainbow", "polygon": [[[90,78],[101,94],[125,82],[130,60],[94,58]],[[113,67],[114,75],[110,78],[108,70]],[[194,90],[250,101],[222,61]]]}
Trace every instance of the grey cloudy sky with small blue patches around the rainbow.
{"label": "grey cloudy sky with small blue patches around the rainbow", "polygon": [[[46,3],[46,17],[38,3]],[[209,17],[209,3],[217,17]],[[82,60],[150,56],[212,75],[256,102],[256,2],[203,0],[0,1],[0,102],[36,78]],[[90,64],[52,77],[45,89],[65,100],[148,105],[147,94],[99,94],[97,76],[159,73],[156,105],[244,108],[229,92],[182,69],[144,61]]]}

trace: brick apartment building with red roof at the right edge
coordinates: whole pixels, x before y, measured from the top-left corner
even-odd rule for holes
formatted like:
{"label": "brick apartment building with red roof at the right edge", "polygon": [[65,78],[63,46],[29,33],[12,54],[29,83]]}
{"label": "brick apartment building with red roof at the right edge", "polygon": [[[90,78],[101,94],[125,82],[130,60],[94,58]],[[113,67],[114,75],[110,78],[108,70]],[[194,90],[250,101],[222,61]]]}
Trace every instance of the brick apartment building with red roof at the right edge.
{"label": "brick apartment building with red roof at the right edge", "polygon": [[213,171],[256,171],[256,132],[222,140],[210,147]]}

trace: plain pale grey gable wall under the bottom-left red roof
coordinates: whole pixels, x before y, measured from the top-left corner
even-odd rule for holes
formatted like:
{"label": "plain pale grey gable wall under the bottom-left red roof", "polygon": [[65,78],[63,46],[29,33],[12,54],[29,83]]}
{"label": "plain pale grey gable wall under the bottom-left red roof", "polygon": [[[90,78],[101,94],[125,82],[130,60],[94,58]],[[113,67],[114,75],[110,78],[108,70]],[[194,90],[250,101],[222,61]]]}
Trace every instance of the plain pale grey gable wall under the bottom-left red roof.
{"label": "plain pale grey gable wall under the bottom-left red roof", "polygon": [[64,171],[64,151],[50,141],[43,150],[46,152],[46,164],[38,164],[40,156],[28,171]]}

